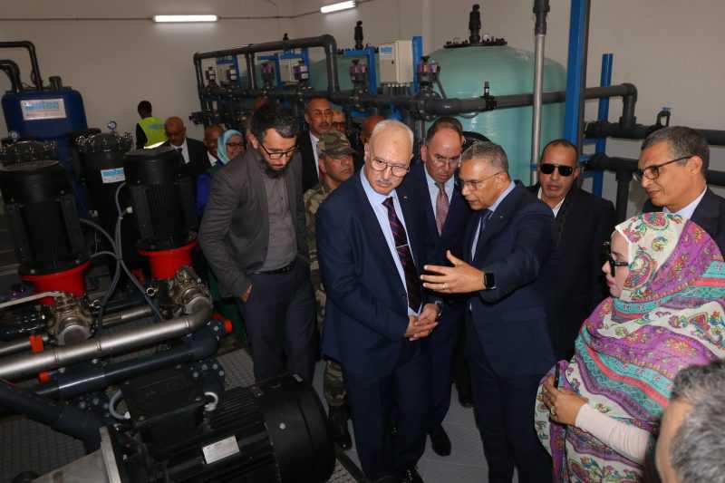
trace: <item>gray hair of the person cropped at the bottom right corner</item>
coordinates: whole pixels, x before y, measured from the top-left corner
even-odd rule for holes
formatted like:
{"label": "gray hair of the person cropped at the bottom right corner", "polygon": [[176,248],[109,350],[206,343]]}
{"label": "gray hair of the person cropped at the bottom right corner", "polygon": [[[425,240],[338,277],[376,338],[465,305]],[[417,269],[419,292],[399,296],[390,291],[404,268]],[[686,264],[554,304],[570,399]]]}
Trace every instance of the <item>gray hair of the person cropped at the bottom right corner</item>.
{"label": "gray hair of the person cropped at the bottom right corner", "polygon": [[725,361],[682,369],[670,399],[692,406],[672,438],[677,478],[681,483],[725,482]]}

